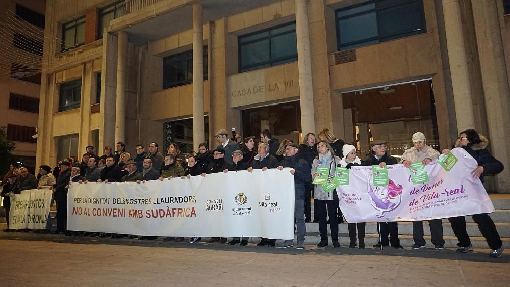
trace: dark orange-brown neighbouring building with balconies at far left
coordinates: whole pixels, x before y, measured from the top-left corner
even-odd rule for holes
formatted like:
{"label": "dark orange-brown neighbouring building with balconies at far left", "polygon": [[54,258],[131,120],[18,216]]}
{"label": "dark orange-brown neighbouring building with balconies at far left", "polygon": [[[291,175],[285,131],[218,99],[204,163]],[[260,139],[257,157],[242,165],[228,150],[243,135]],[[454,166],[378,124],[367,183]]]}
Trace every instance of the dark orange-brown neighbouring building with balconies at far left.
{"label": "dark orange-brown neighbouring building with balconies at far left", "polygon": [[35,172],[45,1],[0,5],[0,126],[16,144],[12,161]]}

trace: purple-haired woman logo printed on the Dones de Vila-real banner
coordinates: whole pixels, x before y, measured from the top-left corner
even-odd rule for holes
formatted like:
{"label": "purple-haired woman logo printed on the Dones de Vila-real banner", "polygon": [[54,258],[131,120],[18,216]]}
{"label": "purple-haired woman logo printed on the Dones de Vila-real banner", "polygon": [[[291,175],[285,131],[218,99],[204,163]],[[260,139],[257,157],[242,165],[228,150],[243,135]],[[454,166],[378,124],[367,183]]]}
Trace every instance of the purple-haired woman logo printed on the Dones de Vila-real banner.
{"label": "purple-haired woman logo printed on the Dones de Vila-real banner", "polygon": [[396,185],[390,179],[387,186],[372,187],[371,180],[368,180],[368,194],[370,195],[372,207],[377,211],[375,215],[381,218],[385,212],[395,210],[400,205],[402,185]]}

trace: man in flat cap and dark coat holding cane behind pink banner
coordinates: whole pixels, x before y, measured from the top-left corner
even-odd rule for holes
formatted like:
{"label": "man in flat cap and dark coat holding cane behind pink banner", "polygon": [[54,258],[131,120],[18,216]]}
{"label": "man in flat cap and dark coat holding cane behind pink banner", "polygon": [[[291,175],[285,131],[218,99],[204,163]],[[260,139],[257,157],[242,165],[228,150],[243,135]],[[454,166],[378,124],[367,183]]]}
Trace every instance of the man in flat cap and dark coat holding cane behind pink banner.
{"label": "man in flat cap and dark coat holding cane behind pink banner", "polygon": [[[397,164],[397,160],[386,152],[386,141],[373,140],[370,142],[370,145],[372,150],[370,151],[369,158],[363,163],[364,166],[378,165],[380,168],[383,168],[386,165]],[[398,225],[396,222],[380,222],[380,230],[379,224],[377,224],[377,232],[380,234],[382,242],[379,241],[373,246],[374,248],[380,248],[381,244],[382,246],[389,246],[390,243],[393,248],[403,248],[400,245],[400,239],[398,239]],[[389,241],[388,234],[390,235]]]}

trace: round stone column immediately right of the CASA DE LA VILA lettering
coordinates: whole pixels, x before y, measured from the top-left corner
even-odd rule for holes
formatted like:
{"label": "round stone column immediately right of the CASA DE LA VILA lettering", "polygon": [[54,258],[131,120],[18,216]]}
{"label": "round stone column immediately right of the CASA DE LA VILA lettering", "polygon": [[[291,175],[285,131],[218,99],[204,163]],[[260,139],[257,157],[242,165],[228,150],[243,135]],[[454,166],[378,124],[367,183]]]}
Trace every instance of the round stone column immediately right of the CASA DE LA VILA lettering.
{"label": "round stone column immediately right of the CASA DE LA VILA lettering", "polygon": [[314,97],[312,87],[312,63],[310,34],[308,29],[307,0],[295,0],[297,64],[299,69],[299,96],[301,104],[301,131],[315,133]]}

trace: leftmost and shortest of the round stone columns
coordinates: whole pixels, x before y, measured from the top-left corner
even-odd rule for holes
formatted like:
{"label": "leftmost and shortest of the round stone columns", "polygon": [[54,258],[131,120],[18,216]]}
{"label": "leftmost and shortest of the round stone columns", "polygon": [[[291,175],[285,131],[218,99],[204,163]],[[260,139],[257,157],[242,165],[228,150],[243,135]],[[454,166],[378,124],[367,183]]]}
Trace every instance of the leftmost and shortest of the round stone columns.
{"label": "leftmost and shortest of the round stone columns", "polygon": [[117,97],[115,102],[115,142],[125,142],[127,87],[127,33],[120,31],[117,45]]}

